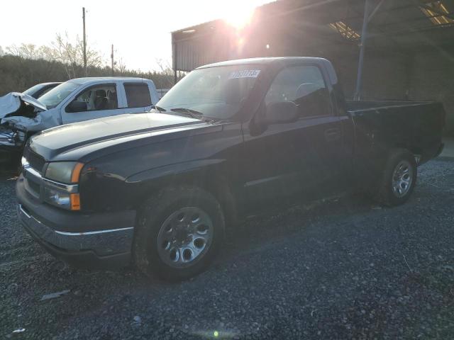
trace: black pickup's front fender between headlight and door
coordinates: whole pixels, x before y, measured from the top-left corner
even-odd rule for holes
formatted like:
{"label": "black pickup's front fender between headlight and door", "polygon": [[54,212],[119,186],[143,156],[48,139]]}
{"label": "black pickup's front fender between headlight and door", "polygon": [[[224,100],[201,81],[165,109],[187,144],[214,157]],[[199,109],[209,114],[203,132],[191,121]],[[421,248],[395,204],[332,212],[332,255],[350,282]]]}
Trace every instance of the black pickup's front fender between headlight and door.
{"label": "black pickup's front fender between headlight and door", "polygon": [[194,131],[184,138],[131,145],[88,162],[81,175],[82,209],[136,209],[145,198],[176,184],[203,187],[222,177],[236,183],[243,157],[239,125],[214,128],[211,133]]}

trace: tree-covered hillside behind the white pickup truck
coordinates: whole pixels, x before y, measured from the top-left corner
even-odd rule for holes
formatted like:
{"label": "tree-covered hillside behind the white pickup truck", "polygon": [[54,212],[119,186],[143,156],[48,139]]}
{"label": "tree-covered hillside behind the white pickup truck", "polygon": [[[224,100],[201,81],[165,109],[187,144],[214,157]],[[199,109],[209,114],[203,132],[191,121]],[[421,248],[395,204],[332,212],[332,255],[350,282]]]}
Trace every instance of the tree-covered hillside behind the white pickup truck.
{"label": "tree-covered hillside behind the white pickup truck", "polygon": [[[78,77],[83,77],[82,67],[75,67]],[[157,89],[168,89],[173,85],[173,76],[168,73],[137,72],[126,70],[116,72],[115,76],[143,77],[152,79]],[[109,77],[110,67],[90,67],[89,77]],[[14,55],[0,56],[0,96],[11,91],[24,91],[29,87],[48,81],[67,81],[67,72],[61,62],[43,59],[31,60]]]}

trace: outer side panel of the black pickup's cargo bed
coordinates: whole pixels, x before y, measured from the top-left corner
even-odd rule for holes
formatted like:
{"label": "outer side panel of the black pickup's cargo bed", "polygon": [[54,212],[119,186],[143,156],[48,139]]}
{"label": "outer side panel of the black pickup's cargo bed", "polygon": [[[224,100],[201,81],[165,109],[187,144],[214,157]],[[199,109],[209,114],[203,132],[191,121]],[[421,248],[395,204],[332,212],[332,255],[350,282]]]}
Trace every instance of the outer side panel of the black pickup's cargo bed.
{"label": "outer side panel of the black pickup's cargo bed", "polygon": [[437,157],[445,111],[430,101],[347,101],[356,127],[357,155],[380,159],[389,147],[411,150],[420,163]]}

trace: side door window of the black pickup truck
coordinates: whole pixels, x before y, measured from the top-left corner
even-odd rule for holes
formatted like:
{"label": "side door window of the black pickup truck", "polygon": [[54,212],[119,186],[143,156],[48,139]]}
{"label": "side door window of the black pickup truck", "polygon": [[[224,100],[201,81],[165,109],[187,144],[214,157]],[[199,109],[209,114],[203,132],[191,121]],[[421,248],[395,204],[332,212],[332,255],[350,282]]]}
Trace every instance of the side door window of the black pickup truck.
{"label": "side door window of the black pickup truck", "polygon": [[265,96],[265,104],[293,101],[300,118],[331,115],[331,99],[323,75],[316,66],[286,67],[277,74]]}

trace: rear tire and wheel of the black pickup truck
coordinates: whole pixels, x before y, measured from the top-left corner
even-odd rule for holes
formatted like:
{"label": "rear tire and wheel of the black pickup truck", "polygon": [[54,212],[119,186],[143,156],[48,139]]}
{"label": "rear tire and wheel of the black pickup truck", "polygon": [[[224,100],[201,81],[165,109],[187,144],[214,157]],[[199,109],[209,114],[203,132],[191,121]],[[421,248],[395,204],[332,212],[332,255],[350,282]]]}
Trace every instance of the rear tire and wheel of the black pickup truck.
{"label": "rear tire and wheel of the black pickup truck", "polygon": [[418,167],[414,154],[406,149],[390,152],[376,200],[389,207],[405,203],[416,186]]}

